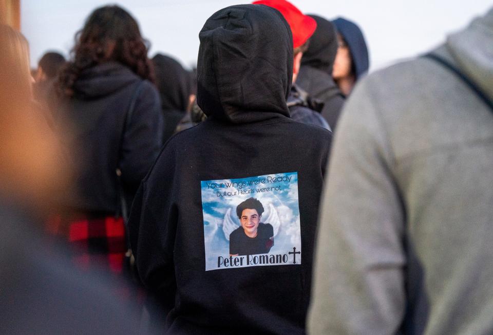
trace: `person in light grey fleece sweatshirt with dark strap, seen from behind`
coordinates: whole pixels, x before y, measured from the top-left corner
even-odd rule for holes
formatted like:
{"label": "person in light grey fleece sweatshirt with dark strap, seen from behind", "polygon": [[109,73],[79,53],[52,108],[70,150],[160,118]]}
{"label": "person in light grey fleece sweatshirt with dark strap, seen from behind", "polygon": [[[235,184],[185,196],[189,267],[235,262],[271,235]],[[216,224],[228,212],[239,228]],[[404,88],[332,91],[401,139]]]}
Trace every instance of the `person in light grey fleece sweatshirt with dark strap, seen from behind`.
{"label": "person in light grey fleece sweatshirt with dark strap, seen from behind", "polygon": [[[493,9],[432,51],[493,98]],[[335,132],[311,334],[493,333],[493,110],[418,59],[363,79]]]}

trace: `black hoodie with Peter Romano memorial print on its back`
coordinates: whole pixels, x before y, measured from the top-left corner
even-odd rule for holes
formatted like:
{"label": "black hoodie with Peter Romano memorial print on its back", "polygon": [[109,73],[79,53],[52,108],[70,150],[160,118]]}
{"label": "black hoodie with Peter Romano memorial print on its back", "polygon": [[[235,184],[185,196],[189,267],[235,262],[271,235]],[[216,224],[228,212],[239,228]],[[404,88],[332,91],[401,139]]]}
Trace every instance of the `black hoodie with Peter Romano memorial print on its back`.
{"label": "black hoodie with Peter Romano memorial print on its back", "polygon": [[[278,11],[227,7],[199,37],[208,118],[166,143],[137,192],[129,227],[141,280],[169,333],[302,334],[331,133],[289,118],[292,38]],[[248,198],[265,211],[243,227]],[[239,227],[268,253],[230,257]]]}

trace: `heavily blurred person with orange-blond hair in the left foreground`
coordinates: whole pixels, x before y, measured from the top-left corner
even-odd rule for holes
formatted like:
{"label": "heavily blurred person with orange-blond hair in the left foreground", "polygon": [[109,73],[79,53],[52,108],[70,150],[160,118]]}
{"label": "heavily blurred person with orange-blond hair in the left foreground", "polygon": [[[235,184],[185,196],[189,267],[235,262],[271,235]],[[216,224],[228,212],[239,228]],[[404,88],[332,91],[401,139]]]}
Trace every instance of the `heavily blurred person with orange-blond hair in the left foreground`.
{"label": "heavily blurred person with orange-blond hair in the left foreground", "polygon": [[67,166],[31,108],[24,36],[0,25],[0,45],[0,333],[137,333],[136,315],[112,293],[120,283],[79,273],[34,224],[52,210]]}

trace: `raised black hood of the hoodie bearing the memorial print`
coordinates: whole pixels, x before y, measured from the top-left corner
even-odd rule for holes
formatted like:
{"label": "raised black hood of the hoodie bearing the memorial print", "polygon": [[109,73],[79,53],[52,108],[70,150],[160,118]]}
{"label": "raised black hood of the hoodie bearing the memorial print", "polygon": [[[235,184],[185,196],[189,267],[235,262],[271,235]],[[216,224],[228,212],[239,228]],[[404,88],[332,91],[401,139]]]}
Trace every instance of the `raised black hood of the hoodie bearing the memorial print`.
{"label": "raised black hood of the hoodie bearing the memorial print", "polygon": [[262,5],[221,9],[199,33],[197,103],[208,117],[249,123],[289,117],[291,29]]}

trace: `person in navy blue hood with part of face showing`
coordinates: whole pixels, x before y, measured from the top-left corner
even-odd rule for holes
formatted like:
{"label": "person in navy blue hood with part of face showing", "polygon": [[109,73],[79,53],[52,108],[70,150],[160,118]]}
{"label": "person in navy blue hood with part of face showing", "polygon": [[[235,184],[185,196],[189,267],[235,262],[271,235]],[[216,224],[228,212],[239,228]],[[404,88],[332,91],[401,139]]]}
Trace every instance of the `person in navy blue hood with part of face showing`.
{"label": "person in navy blue hood with part of face showing", "polygon": [[337,28],[339,46],[332,77],[340,91],[348,96],[358,79],[368,71],[368,48],[363,32],[354,22],[338,17],[332,23]]}

